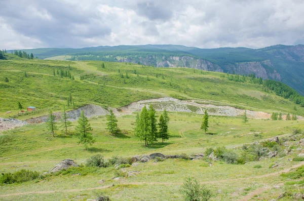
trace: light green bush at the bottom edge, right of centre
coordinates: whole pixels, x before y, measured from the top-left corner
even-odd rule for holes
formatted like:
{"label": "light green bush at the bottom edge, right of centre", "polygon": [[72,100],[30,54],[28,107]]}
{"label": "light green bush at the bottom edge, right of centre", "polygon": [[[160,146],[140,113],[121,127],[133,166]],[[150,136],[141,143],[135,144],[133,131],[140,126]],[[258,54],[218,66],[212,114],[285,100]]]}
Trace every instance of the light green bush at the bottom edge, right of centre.
{"label": "light green bush at the bottom edge, right of centre", "polygon": [[212,192],[205,186],[199,184],[196,179],[187,178],[180,188],[185,201],[208,201]]}

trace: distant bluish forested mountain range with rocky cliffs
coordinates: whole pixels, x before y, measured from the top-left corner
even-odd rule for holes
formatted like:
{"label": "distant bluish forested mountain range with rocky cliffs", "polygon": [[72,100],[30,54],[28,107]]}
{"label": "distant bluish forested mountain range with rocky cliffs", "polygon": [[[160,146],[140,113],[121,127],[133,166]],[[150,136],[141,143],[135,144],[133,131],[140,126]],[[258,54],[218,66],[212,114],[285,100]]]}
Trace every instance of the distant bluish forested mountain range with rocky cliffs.
{"label": "distant bluish forested mountain range with rocky cliffs", "polygon": [[[179,45],[99,46],[82,49],[22,50],[45,59],[102,60],[155,67],[190,67],[234,74],[254,74],[281,81],[304,95],[304,46],[276,45],[262,49],[200,49]],[[62,59],[62,58],[61,58]]]}

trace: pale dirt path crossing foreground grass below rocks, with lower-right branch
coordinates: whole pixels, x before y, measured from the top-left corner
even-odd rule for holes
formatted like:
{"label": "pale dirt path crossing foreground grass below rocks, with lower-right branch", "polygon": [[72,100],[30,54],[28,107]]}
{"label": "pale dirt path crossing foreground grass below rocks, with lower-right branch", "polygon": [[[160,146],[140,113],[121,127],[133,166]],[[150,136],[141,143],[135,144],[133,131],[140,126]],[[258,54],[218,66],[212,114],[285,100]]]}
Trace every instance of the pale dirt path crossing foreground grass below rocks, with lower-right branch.
{"label": "pale dirt path crossing foreground grass below rocks, with lower-right branch", "polygon": [[[201,184],[212,184],[212,183],[223,183],[223,182],[230,182],[230,181],[240,181],[245,179],[258,179],[258,178],[264,178],[274,175],[279,175],[281,173],[289,172],[291,169],[298,168],[300,166],[304,165],[304,162],[301,162],[299,164],[296,164],[290,168],[284,169],[279,172],[265,174],[265,175],[259,175],[255,177],[245,177],[245,178],[238,178],[238,179],[225,179],[225,180],[217,180],[217,181],[205,181],[201,182]],[[181,185],[182,183],[179,182],[121,182],[122,185]],[[282,185],[282,184],[278,184]],[[14,195],[26,195],[26,194],[46,194],[46,193],[56,193],[56,192],[79,192],[79,191],[85,191],[85,190],[96,190],[96,189],[103,189],[103,188],[109,188],[111,186],[99,186],[99,187],[93,187],[93,188],[82,188],[82,189],[68,189],[68,190],[47,190],[47,191],[30,191],[30,192],[19,192],[19,193],[10,193],[10,194],[2,194],[0,197],[7,197],[7,196],[14,196]],[[260,194],[264,192],[265,190],[269,189],[268,186],[264,186],[262,188],[256,189],[249,194],[247,194],[244,198],[240,199],[242,201],[247,201],[250,198],[252,198],[254,195]]]}

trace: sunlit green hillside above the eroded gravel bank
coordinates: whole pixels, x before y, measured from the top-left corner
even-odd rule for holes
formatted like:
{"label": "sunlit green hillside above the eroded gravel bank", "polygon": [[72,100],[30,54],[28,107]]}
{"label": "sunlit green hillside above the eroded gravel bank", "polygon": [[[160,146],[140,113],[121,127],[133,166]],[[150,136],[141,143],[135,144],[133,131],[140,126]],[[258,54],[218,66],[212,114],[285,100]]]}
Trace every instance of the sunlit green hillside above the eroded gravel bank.
{"label": "sunlit green hillside above the eroded gravel bank", "polygon": [[25,115],[18,113],[18,101],[36,106],[35,115],[45,114],[50,108],[60,110],[71,95],[74,106],[70,108],[86,104],[117,108],[143,99],[173,97],[304,115],[303,97],[276,82],[189,68],[115,62],[104,65],[102,68],[100,61],[2,60],[0,114]]}

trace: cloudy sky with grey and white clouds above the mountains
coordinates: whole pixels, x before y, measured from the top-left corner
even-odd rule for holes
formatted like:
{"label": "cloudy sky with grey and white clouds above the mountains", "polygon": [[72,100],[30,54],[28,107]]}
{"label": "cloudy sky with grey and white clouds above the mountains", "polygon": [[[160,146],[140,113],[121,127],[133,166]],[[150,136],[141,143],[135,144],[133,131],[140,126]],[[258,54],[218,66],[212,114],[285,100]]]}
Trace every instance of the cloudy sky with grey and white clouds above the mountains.
{"label": "cloudy sky with grey and white clouds above the mountains", "polygon": [[0,0],[0,48],[304,44],[303,0]]}

